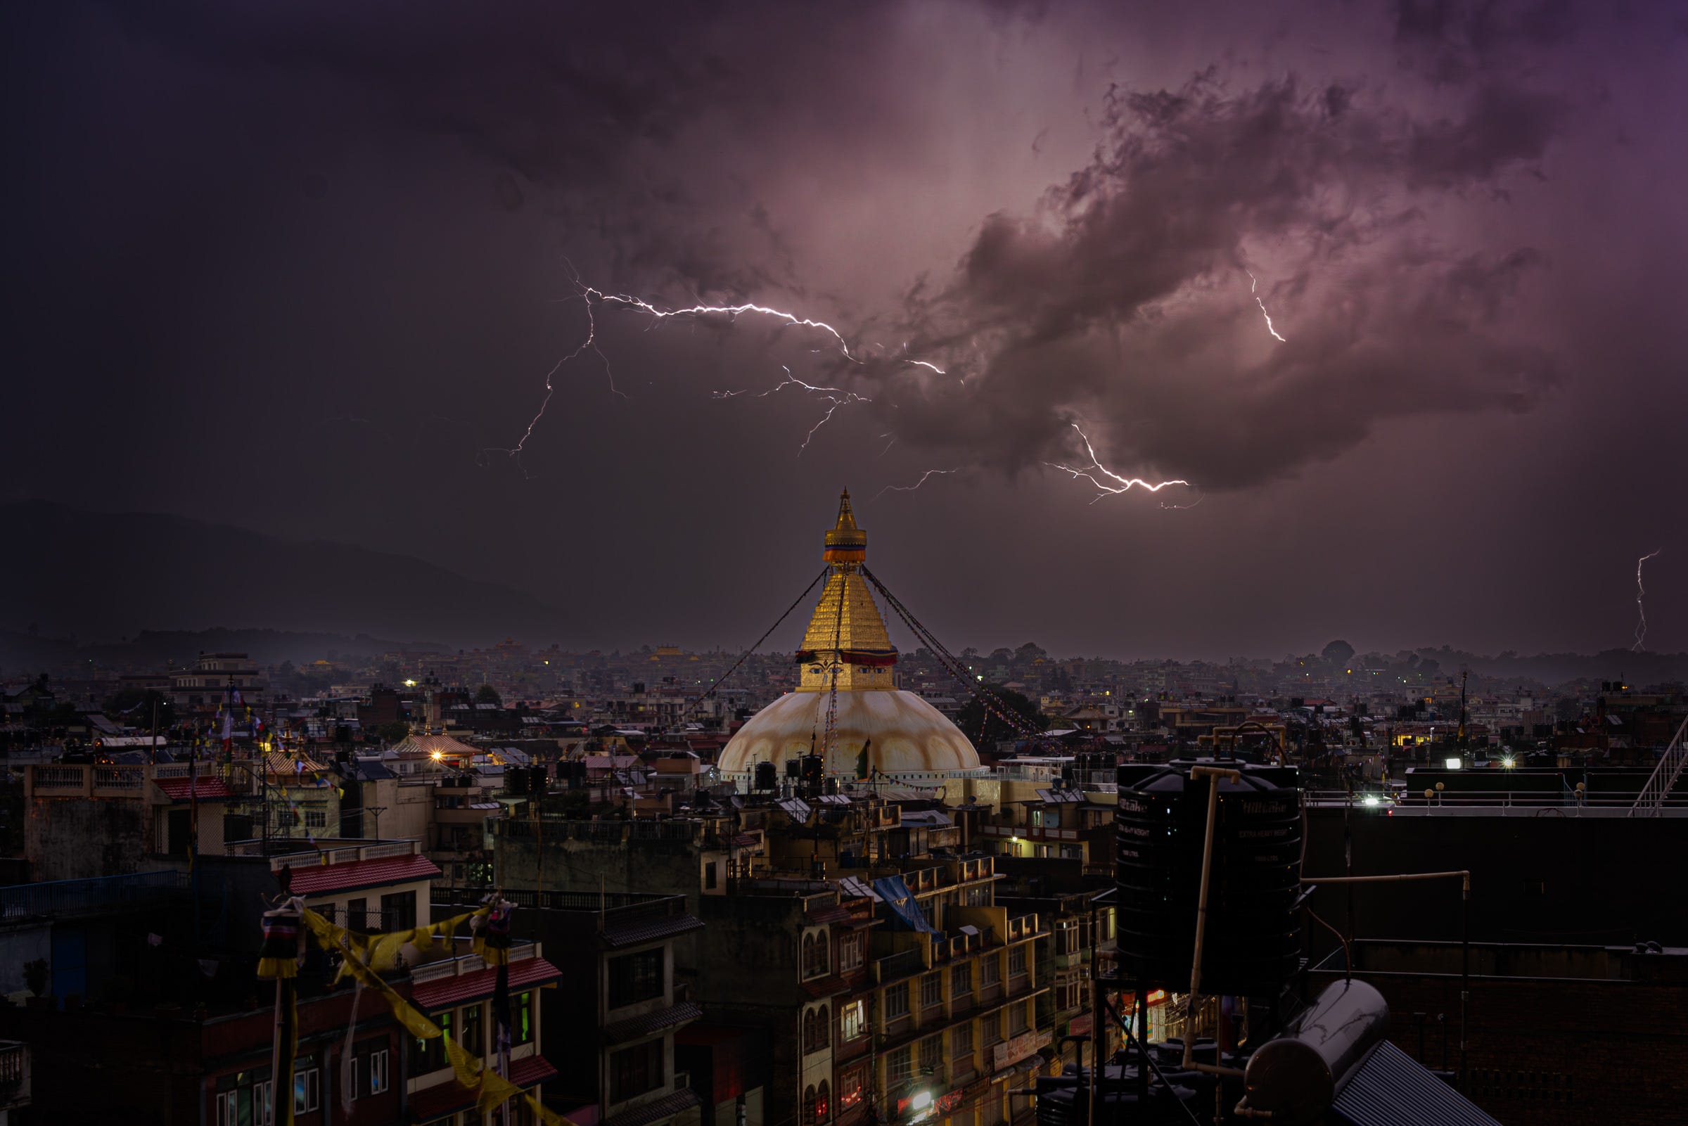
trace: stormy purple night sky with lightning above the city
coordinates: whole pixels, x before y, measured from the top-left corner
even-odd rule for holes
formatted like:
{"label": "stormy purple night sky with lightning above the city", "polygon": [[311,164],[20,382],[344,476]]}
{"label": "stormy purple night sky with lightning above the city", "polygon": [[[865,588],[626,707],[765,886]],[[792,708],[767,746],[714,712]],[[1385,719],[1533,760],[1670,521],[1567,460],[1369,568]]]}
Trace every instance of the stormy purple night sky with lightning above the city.
{"label": "stormy purple night sky with lightning above the city", "polygon": [[[1663,549],[1688,648],[1680,5],[0,19],[3,500],[398,550],[604,647],[755,640],[841,486],[952,648],[1624,648]],[[1075,425],[1190,486],[1097,500]]]}

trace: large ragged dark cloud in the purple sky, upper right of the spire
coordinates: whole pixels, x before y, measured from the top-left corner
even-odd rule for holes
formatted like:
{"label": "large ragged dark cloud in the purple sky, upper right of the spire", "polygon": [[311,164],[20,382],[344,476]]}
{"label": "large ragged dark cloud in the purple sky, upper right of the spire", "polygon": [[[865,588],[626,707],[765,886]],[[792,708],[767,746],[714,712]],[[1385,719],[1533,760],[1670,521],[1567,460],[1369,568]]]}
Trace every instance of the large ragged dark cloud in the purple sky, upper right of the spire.
{"label": "large ragged dark cloud in the purple sky, upper right of the spire", "polygon": [[1116,91],[1096,159],[1038,211],[987,216],[915,302],[915,355],[966,383],[901,368],[886,419],[1009,473],[1072,463],[1080,420],[1114,468],[1244,488],[1382,419],[1526,410],[1558,378],[1509,316],[1541,255],[1423,216],[1497,191],[1561,123],[1523,89],[1430,120],[1293,78]]}

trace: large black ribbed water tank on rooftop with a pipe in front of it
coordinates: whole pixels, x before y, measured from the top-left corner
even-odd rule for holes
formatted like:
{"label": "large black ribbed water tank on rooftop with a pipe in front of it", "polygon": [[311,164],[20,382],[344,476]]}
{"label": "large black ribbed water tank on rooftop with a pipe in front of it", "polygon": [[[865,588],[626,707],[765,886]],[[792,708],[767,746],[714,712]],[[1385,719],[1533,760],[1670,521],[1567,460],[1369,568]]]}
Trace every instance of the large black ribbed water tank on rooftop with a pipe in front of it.
{"label": "large black ribbed water tank on rooftop with a pipe in front of it", "polygon": [[1180,760],[1119,768],[1119,969],[1128,981],[1188,989],[1212,785],[1190,778],[1198,765],[1242,775],[1219,783],[1202,993],[1269,994],[1291,977],[1301,949],[1301,788],[1293,766]]}

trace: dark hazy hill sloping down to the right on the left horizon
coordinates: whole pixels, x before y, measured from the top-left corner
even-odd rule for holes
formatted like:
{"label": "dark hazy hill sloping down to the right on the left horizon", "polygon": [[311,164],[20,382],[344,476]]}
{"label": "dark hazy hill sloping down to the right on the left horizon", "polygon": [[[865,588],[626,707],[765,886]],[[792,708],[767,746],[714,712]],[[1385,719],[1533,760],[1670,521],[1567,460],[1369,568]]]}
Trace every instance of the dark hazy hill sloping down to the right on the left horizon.
{"label": "dark hazy hill sloping down to the right on the left horizon", "polygon": [[434,564],[184,517],[0,505],[0,631],[79,643],[143,630],[285,630],[486,645],[567,643],[555,606]]}

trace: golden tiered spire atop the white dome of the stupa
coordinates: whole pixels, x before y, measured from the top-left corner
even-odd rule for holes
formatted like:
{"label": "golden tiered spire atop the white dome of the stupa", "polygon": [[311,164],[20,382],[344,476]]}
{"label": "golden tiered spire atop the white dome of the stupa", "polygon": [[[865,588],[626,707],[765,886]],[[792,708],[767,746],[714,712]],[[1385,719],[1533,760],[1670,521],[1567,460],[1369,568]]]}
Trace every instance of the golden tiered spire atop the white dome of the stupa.
{"label": "golden tiered spire atop the white dome of the stupa", "polygon": [[824,559],[832,564],[820,603],[809,620],[798,660],[805,689],[829,689],[830,667],[839,665],[839,689],[890,689],[896,647],[873,601],[861,566],[868,562],[868,533],[856,527],[849,490],[839,496],[839,518],[827,532]]}

